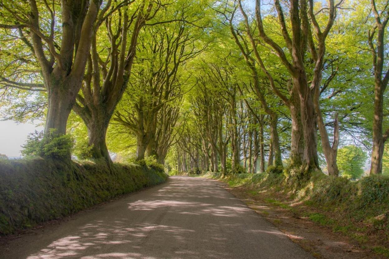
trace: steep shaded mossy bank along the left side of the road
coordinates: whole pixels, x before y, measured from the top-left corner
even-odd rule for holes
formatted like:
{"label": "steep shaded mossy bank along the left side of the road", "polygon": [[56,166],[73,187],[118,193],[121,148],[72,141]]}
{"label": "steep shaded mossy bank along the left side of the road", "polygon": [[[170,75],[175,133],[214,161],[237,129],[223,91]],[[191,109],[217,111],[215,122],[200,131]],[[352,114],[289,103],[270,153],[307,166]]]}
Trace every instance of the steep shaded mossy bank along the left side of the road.
{"label": "steep shaded mossy bank along the left side of the road", "polygon": [[0,235],[165,182],[155,167],[48,159],[0,160]]}

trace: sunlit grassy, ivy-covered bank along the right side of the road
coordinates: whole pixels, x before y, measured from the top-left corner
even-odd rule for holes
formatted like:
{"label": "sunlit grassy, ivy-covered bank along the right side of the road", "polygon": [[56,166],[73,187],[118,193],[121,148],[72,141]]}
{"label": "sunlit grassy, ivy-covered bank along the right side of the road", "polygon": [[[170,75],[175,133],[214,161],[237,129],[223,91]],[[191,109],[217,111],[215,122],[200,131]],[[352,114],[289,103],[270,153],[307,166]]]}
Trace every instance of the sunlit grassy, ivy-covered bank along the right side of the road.
{"label": "sunlit grassy, ivy-covered bank along the right side of the road", "polygon": [[308,218],[389,257],[387,176],[350,181],[314,172],[310,180],[298,183],[284,174],[238,174],[224,179],[219,173],[206,176],[242,187],[252,197],[261,197],[269,205],[290,210],[296,217]]}

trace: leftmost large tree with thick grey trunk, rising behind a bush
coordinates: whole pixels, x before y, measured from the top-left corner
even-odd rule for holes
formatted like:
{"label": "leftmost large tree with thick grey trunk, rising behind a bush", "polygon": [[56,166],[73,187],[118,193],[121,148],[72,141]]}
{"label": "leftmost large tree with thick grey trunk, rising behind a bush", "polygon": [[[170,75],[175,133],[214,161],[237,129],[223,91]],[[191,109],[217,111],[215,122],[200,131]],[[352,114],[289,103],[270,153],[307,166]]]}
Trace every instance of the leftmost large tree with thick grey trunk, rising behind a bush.
{"label": "leftmost large tree with thick grey trunk, rising behind a bush", "polygon": [[[25,82],[24,76],[14,73],[12,79],[2,77],[1,81],[8,87],[47,91],[46,134],[50,131],[66,133],[67,119],[81,87],[88,59],[85,53],[89,52],[100,24],[114,11],[110,9],[111,1],[102,2],[0,2],[2,34],[25,45],[23,52],[13,52],[15,59],[20,60],[28,53],[37,65],[34,73],[42,76],[42,83],[38,84]],[[123,1],[116,7],[127,2]]]}

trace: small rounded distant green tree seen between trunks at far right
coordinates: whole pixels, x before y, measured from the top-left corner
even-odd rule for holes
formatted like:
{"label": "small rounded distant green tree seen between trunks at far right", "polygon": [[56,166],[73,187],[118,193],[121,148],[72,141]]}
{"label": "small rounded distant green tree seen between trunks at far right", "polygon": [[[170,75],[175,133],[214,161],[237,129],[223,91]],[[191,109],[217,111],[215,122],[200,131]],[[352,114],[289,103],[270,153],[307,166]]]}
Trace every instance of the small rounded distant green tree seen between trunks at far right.
{"label": "small rounded distant green tree seen between trunks at far right", "polygon": [[363,175],[364,162],[367,159],[366,152],[355,145],[348,145],[338,150],[339,173],[348,179],[356,180]]}

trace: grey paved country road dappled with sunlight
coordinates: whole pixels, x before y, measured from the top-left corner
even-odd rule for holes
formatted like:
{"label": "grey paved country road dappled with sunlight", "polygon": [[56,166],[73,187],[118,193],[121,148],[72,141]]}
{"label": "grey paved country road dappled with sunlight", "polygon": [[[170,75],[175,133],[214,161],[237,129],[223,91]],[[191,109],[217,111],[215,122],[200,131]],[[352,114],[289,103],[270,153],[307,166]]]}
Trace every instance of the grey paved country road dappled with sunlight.
{"label": "grey paved country road dappled with sunlight", "polygon": [[313,258],[219,185],[170,177],[3,244],[0,258]]}

